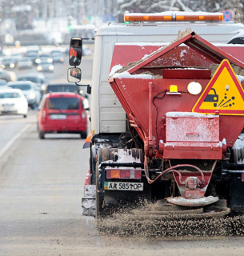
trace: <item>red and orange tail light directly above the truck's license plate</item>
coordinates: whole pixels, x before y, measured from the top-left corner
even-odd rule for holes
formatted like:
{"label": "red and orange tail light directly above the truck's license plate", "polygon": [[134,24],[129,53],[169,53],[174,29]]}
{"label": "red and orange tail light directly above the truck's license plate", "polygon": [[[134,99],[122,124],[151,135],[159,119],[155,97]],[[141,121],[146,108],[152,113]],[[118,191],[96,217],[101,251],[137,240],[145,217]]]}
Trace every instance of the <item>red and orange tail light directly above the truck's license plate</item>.
{"label": "red and orange tail light directly above the truck's license plate", "polygon": [[141,179],[141,169],[106,169],[106,178]]}

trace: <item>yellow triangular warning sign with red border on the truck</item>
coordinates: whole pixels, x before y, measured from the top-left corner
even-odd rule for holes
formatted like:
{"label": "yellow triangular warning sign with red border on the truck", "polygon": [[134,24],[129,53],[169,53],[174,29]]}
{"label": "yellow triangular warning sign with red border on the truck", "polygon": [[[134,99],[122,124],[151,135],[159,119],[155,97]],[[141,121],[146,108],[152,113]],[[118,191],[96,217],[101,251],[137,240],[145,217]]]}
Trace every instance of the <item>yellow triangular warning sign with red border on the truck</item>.
{"label": "yellow triangular warning sign with red border on the truck", "polygon": [[244,90],[224,59],[192,109],[202,114],[244,115]]}

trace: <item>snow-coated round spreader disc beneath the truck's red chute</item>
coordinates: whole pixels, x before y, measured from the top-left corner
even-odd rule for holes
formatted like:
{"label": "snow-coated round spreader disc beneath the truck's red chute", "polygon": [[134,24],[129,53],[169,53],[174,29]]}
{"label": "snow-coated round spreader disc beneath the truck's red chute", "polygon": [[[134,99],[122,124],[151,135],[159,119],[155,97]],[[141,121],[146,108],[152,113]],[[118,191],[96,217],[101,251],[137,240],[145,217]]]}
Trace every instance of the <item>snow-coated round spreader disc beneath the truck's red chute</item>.
{"label": "snow-coated round spreader disc beneath the truck's red chute", "polygon": [[168,202],[173,203],[177,206],[191,206],[191,207],[197,207],[197,206],[208,206],[211,203],[218,202],[218,197],[204,197],[199,199],[186,199],[183,197],[177,197],[177,198],[166,198]]}

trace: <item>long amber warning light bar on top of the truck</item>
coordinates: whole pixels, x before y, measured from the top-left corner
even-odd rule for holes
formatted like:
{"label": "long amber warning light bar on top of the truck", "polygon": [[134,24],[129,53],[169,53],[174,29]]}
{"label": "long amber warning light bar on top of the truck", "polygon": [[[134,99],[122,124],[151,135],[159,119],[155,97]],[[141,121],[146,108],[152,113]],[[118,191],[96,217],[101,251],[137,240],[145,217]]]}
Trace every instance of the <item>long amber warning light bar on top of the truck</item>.
{"label": "long amber warning light bar on top of the truck", "polygon": [[223,14],[124,14],[125,22],[197,22],[222,21]]}

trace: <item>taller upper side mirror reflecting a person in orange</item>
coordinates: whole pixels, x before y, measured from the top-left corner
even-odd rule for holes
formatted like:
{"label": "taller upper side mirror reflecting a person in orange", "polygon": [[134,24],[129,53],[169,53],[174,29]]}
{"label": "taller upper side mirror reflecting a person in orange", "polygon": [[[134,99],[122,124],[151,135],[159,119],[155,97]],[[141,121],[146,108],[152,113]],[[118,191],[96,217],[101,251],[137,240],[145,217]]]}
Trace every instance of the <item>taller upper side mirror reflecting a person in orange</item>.
{"label": "taller upper side mirror reflecting a person in orange", "polygon": [[79,66],[82,61],[82,38],[70,40],[70,66]]}

